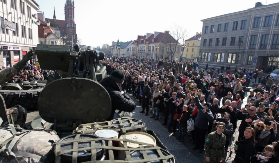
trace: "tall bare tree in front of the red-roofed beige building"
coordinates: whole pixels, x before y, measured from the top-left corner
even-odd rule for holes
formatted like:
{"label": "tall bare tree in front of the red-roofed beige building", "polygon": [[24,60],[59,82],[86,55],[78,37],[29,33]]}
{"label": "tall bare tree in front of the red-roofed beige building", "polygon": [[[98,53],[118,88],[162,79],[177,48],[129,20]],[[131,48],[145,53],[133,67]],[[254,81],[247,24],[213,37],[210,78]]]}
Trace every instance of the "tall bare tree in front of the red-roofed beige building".
{"label": "tall bare tree in front of the red-roofed beige building", "polygon": [[174,54],[177,52],[179,53],[181,50],[181,45],[179,43],[179,40],[183,39],[186,37],[186,30],[182,29],[180,26],[175,26],[175,29],[172,29],[169,33],[166,33],[166,40],[167,44],[169,44],[169,51],[168,54],[171,56],[171,61],[174,57]]}

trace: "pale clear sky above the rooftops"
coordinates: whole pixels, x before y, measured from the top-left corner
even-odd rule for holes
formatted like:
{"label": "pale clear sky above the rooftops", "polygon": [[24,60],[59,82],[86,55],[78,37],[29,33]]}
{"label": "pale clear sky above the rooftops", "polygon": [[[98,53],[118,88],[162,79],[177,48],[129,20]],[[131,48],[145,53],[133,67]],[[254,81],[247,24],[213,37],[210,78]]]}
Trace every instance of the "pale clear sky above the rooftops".
{"label": "pale clear sky above the rooftops", "polygon": [[[65,20],[66,0],[35,0],[46,18]],[[76,34],[82,45],[97,47],[112,41],[136,40],[138,35],[180,26],[187,38],[202,31],[201,20],[246,10],[278,0],[75,0]],[[187,39],[185,38],[185,39]],[[180,43],[182,43],[181,41]]]}

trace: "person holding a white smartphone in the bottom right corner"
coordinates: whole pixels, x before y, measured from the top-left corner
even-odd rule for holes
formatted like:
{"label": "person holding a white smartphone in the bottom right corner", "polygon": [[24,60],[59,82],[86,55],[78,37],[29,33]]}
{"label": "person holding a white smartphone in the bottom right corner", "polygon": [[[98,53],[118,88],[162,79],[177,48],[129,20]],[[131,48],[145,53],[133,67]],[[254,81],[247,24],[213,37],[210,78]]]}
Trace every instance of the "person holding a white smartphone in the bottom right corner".
{"label": "person holding a white smartphone in the bottom right corner", "polygon": [[267,145],[264,148],[264,152],[259,152],[251,158],[251,163],[278,163],[278,160],[273,156],[274,147],[272,145]]}

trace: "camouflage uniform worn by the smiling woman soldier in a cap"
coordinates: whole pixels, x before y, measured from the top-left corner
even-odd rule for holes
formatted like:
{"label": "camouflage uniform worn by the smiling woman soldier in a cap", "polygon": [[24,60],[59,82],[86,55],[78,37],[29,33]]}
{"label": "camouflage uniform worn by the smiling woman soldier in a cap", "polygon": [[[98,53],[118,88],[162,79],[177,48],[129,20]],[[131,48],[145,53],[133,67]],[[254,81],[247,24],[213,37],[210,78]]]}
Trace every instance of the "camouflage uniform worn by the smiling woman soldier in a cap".
{"label": "camouflage uniform worn by the smiling woman soldier in a cap", "polygon": [[[205,139],[205,157],[209,157],[209,163],[216,163],[219,162],[221,157],[224,158],[224,150],[226,144],[226,136],[222,133],[221,137],[219,138],[217,131],[211,132],[208,134],[207,138]],[[208,163],[204,161],[205,163]]]}

